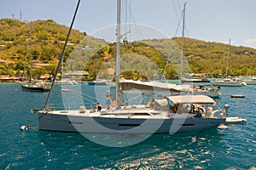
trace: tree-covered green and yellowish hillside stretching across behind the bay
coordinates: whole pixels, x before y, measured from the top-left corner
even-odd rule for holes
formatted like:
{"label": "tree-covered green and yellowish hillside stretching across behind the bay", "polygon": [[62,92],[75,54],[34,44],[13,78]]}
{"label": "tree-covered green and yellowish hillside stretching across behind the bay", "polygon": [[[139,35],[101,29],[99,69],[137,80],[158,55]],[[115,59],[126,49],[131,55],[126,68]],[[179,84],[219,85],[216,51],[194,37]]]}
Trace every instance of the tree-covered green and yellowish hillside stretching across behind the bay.
{"label": "tree-covered green and yellowish hillside stretching across behind the bay", "polygon": [[[33,68],[33,76],[53,74],[67,37],[67,26],[54,20],[0,20],[0,75],[28,75],[31,60],[48,64]],[[73,30],[64,54],[64,63],[70,71],[88,71],[88,80],[96,77],[114,78],[104,74],[115,68],[116,44],[87,36]],[[180,71],[181,37],[154,39],[122,44],[122,75],[125,78],[160,78],[165,71],[168,79]],[[185,38],[184,73],[207,73],[208,77],[224,76],[229,46],[218,42],[204,42]],[[256,49],[230,46],[229,75],[255,75]],[[169,61],[166,61],[169,57]]]}

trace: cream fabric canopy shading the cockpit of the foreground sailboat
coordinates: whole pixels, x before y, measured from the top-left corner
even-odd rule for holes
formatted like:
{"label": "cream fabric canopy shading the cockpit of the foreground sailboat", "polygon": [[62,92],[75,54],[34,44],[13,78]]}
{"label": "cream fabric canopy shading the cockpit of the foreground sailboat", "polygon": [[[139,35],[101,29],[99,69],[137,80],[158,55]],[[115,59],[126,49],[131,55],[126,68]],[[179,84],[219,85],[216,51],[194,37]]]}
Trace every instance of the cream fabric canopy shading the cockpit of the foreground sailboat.
{"label": "cream fabric canopy shading the cockpit of the foreground sailboat", "polygon": [[174,104],[214,104],[215,101],[206,95],[167,96]]}

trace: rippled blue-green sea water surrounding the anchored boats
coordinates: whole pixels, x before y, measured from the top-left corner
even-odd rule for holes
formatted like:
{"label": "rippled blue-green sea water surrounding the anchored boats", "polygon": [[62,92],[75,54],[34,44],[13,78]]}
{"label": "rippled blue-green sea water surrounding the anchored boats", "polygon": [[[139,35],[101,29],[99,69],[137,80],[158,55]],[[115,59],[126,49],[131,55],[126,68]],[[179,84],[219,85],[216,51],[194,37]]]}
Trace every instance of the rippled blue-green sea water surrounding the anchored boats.
{"label": "rippled blue-green sea water surrounding the anchored boats", "polygon": [[[94,107],[96,98],[104,99],[105,87],[81,87],[86,107]],[[256,169],[255,88],[221,88],[222,96],[216,99],[222,108],[230,105],[229,116],[241,116],[247,123],[196,133],[154,134],[137,144],[108,147],[80,133],[38,131],[38,116],[31,110],[43,109],[48,93],[26,92],[20,84],[0,83],[0,169]],[[55,86],[49,103],[63,107],[68,99],[76,100],[65,93]],[[67,96],[66,102],[61,94]],[[95,99],[86,97],[90,94]],[[246,97],[234,99],[230,94]],[[29,129],[21,131],[22,125]]]}

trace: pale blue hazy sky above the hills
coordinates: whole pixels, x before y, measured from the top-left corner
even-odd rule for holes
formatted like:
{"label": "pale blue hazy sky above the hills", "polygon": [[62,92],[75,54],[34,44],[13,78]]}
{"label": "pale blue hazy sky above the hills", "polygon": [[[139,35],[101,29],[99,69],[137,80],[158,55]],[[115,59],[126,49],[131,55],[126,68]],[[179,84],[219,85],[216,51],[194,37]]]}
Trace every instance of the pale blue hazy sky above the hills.
{"label": "pale blue hazy sky above the hills", "polygon": [[[154,34],[156,37],[181,37],[179,23],[184,1],[122,1],[126,3],[123,11],[128,11],[122,13],[122,22],[131,21],[135,27],[160,31],[161,34]],[[78,0],[2,0],[1,3],[0,18],[51,19],[70,26]],[[73,28],[96,35],[97,31],[114,26],[116,6],[116,0],[81,0]],[[256,48],[255,7],[255,0],[187,0],[185,37],[224,43],[231,39],[231,45]]]}

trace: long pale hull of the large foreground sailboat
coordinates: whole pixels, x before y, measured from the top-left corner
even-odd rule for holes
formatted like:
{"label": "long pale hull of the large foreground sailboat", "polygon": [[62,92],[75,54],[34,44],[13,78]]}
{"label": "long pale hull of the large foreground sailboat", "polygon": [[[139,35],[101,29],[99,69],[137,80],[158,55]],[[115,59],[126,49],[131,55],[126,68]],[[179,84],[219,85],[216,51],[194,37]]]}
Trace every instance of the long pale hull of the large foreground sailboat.
{"label": "long pale hull of the large foreground sailboat", "polygon": [[[225,118],[89,116],[88,113],[38,113],[39,130],[76,133],[183,133],[218,127]],[[76,111],[77,112],[77,111]],[[177,115],[177,114],[176,114]],[[187,118],[184,118],[184,115]],[[189,115],[189,116],[188,116]]]}

